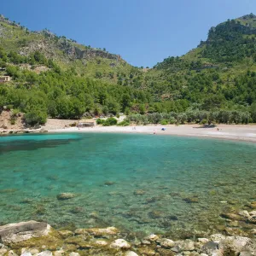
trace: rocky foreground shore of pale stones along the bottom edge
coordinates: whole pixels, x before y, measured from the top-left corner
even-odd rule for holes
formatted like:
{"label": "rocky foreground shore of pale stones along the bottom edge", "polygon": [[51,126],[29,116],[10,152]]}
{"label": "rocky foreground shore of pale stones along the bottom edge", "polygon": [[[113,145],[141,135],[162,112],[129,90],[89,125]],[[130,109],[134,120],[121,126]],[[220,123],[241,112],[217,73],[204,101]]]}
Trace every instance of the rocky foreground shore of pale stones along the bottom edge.
{"label": "rocky foreground shore of pale stones along the bottom edge", "polygon": [[[256,211],[226,213],[224,218],[255,224]],[[251,230],[250,234],[256,234]],[[37,221],[7,224],[0,227],[0,255],[6,256],[79,256],[79,255],[256,255],[256,238],[213,234],[196,240],[173,241],[172,237],[151,234],[131,238],[115,227],[55,230]]]}

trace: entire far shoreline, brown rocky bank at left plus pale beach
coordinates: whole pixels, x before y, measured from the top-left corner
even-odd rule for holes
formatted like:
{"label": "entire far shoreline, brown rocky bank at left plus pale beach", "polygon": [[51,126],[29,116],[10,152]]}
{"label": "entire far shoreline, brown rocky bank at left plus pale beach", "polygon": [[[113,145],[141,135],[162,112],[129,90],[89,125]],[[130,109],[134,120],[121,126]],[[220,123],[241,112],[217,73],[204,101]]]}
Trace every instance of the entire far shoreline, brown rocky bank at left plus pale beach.
{"label": "entire far shoreline, brown rocky bank at left plus pale beach", "polygon": [[[176,137],[201,137],[235,142],[256,143],[256,125],[216,125],[204,127],[203,125],[129,125],[129,126],[102,126],[69,127],[73,120],[49,119],[39,129],[0,129],[0,137],[12,134],[26,133],[128,133],[151,134]],[[162,128],[166,131],[161,131]],[[154,134],[155,133],[155,134]]]}

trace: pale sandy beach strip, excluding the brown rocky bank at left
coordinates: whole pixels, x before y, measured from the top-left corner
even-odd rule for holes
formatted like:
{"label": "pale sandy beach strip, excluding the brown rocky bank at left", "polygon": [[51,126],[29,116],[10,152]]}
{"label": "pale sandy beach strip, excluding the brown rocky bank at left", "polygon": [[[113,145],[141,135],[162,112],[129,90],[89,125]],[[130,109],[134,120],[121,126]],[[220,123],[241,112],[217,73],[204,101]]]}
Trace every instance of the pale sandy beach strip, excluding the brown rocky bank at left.
{"label": "pale sandy beach strip, excluding the brown rocky bank at left", "polygon": [[[166,128],[166,131],[161,131],[163,127]],[[46,125],[44,129],[49,132],[155,133],[155,135],[212,137],[256,143],[256,125],[217,125],[212,128],[204,128],[202,125],[137,125],[125,127],[95,126],[92,128],[68,127],[61,129],[47,129]]]}

